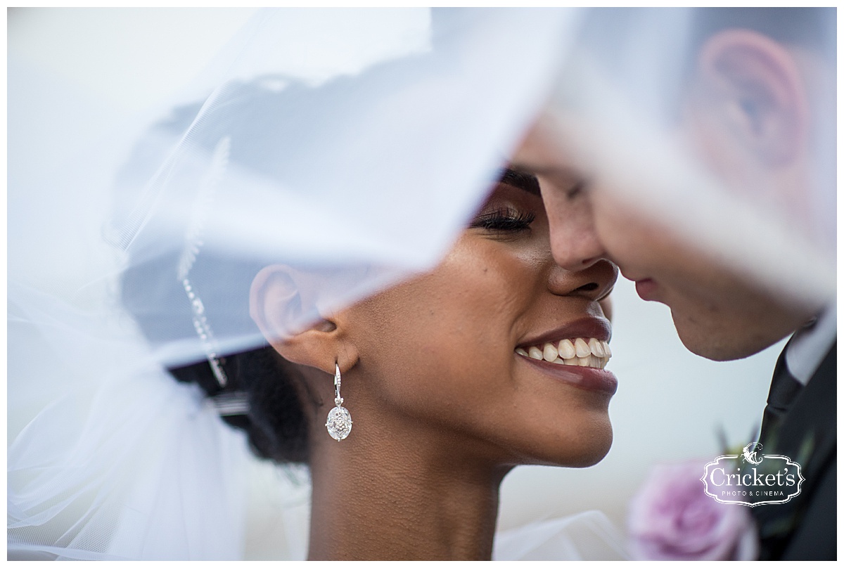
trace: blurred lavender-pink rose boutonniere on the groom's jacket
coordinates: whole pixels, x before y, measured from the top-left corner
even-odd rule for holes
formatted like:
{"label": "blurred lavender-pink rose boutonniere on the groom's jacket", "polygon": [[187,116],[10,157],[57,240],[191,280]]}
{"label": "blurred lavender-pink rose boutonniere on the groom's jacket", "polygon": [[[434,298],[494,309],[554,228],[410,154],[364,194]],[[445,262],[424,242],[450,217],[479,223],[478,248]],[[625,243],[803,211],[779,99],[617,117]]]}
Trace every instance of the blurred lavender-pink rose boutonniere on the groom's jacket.
{"label": "blurred lavender-pink rose boutonniere on the groom's jacket", "polygon": [[706,495],[706,462],[659,465],[630,502],[630,554],[636,560],[755,560],[749,509]]}

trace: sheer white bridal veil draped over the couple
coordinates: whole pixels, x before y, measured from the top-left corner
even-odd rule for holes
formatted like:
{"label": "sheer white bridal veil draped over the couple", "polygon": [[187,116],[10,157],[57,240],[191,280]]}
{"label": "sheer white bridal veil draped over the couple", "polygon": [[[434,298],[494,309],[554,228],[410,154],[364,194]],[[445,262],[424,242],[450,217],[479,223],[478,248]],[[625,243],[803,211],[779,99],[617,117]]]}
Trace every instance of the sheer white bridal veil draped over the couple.
{"label": "sheer white bridal veil draped over the couple", "polygon": [[[834,297],[834,160],[809,221],[723,191],[663,112],[693,11],[617,15],[602,35],[571,9],[262,10],[187,89],[84,149],[97,101],[34,96],[11,42],[10,557],[240,558],[245,470],[263,466],[163,367],[262,345],[256,267],[308,276],[295,327],[434,266],[543,106],[631,207],[783,301]],[[65,122],[45,127],[56,101]],[[301,557],[306,483],[262,471]]]}

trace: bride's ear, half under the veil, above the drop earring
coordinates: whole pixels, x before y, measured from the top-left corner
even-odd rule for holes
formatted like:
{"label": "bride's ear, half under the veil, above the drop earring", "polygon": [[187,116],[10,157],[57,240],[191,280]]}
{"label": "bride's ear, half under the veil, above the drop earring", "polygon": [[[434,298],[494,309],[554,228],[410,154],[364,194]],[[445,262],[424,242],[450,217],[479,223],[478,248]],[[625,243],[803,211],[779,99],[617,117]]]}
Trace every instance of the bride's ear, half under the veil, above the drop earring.
{"label": "bride's ear, half under the veil, above the drop earring", "polygon": [[307,280],[306,275],[281,264],[262,268],[252,279],[249,312],[284,359],[333,374],[335,360],[342,359],[341,369],[348,368],[357,354],[344,341],[344,329],[338,328],[336,318],[317,314],[313,302],[303,299]]}

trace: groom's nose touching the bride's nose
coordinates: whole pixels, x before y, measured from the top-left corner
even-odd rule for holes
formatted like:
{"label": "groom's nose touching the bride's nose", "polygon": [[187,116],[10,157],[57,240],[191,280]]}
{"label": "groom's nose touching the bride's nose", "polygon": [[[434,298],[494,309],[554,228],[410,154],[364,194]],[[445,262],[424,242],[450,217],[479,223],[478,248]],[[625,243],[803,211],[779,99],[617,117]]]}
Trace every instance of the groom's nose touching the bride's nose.
{"label": "groom's nose touching the bride's nose", "polygon": [[541,187],[548,215],[551,254],[555,262],[566,270],[578,271],[607,258],[595,231],[595,219],[588,196],[572,196],[570,191],[552,184],[543,184]]}

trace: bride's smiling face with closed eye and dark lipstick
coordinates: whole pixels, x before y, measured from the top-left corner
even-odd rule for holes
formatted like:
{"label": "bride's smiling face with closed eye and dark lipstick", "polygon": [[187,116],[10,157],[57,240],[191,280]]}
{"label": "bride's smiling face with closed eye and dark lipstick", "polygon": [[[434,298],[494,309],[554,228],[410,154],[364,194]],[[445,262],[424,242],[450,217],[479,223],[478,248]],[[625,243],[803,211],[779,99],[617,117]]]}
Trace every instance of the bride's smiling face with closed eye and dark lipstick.
{"label": "bride's smiling face with closed eye and dark lipstick", "polygon": [[616,276],[605,260],[558,267],[535,179],[500,183],[436,269],[345,311],[352,436],[388,430],[492,463],[597,462],[616,388],[599,300]]}

